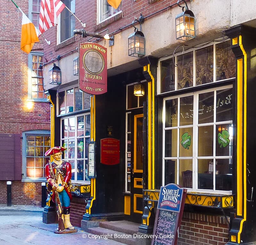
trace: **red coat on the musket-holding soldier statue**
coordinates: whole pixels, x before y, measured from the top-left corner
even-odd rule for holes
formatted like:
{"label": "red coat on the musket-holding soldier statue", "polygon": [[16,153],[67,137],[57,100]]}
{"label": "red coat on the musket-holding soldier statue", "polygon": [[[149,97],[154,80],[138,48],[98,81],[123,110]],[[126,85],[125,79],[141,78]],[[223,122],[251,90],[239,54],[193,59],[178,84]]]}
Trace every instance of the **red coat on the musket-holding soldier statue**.
{"label": "red coat on the musket-holding soldier statue", "polygon": [[[57,165],[55,162],[51,162],[53,173],[55,176],[56,183],[57,185],[58,182],[58,176],[60,175],[62,186],[66,190],[70,200],[72,200],[72,195],[70,191],[70,186],[69,186],[69,181],[71,180],[71,164],[69,162],[64,162],[60,165]],[[50,174],[50,163],[45,165],[45,172],[46,172],[46,180],[47,182],[53,187],[54,189],[54,182],[52,181],[52,176]],[[52,200],[55,202],[55,192],[53,191],[52,194]]]}

